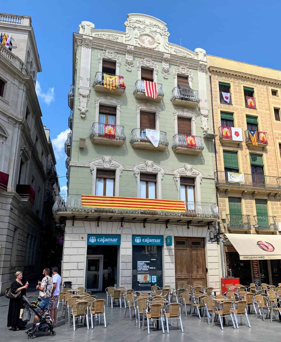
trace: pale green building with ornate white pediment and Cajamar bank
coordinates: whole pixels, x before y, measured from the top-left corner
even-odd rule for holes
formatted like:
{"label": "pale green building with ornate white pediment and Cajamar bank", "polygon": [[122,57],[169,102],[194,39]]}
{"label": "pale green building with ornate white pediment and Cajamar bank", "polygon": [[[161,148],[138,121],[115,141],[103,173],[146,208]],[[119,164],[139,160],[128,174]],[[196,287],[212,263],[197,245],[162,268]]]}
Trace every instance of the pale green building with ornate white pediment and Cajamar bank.
{"label": "pale green building with ornate white pediment and Cajamar bank", "polygon": [[66,222],[63,281],[218,290],[206,53],[169,43],[148,15],[124,26],[73,34],[68,195],[53,208]]}

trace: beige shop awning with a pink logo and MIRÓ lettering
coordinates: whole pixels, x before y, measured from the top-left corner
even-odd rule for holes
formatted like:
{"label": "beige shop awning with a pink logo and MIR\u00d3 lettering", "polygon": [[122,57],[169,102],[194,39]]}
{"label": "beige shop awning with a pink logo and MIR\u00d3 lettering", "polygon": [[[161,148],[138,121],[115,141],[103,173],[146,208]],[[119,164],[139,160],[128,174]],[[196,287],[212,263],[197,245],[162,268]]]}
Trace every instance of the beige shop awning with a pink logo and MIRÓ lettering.
{"label": "beige shop awning with a pink logo and MIR\u00d3 lettering", "polygon": [[281,259],[281,235],[226,234],[240,260]]}

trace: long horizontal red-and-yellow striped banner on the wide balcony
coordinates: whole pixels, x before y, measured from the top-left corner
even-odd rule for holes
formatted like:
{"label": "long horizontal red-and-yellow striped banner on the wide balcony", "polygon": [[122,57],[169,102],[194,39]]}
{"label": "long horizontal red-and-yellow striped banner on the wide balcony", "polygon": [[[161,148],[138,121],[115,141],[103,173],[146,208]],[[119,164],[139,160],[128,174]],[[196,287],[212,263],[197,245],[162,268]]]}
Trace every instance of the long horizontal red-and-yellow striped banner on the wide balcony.
{"label": "long horizontal red-and-yellow striped banner on the wide balcony", "polygon": [[81,195],[82,207],[185,212],[184,201],[166,199]]}

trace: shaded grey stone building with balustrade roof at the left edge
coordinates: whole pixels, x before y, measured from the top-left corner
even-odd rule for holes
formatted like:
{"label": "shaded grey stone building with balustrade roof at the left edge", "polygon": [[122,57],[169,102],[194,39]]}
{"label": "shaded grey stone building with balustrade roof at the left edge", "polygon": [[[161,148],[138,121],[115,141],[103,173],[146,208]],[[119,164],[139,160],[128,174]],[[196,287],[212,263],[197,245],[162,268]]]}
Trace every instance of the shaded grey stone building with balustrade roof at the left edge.
{"label": "shaded grey stone building with balustrade roof at the left edge", "polygon": [[[49,131],[41,121],[35,84],[41,71],[29,16],[0,13],[0,293],[15,272],[38,279],[45,242],[54,227],[52,205],[59,185]],[[47,137],[48,136],[48,137]],[[44,259],[44,261],[46,261]]]}

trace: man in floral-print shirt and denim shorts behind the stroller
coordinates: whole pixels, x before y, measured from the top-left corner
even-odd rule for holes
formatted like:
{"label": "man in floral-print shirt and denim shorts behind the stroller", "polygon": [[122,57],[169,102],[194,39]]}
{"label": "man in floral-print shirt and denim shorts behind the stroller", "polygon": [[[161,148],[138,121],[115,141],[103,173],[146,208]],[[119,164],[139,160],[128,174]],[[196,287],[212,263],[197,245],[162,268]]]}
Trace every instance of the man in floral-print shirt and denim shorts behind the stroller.
{"label": "man in floral-print shirt and denim shorts behind the stroller", "polygon": [[[39,290],[38,297],[38,310],[41,314],[44,314],[49,309],[50,298],[52,293],[53,279],[50,277],[50,268],[44,268],[44,278],[42,281],[38,281],[36,288]],[[39,321],[38,316],[34,316],[33,327]]]}

